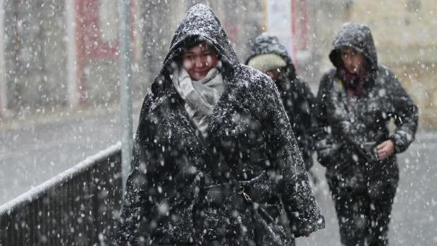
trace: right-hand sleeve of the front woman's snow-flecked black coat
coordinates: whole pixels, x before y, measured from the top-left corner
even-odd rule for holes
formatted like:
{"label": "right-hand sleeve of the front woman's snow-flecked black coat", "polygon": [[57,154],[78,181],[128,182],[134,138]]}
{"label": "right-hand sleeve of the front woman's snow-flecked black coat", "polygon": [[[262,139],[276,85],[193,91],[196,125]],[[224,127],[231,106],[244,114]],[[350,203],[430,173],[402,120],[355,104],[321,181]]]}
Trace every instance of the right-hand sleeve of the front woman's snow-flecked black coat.
{"label": "right-hand sleeve of the front woman's snow-flecked black coat", "polygon": [[262,90],[256,90],[261,122],[266,133],[271,162],[271,178],[275,178],[281,192],[284,209],[290,219],[290,228],[296,237],[305,231],[324,228],[314,193],[309,185],[307,171],[293,135],[285,109],[273,81],[266,79]]}

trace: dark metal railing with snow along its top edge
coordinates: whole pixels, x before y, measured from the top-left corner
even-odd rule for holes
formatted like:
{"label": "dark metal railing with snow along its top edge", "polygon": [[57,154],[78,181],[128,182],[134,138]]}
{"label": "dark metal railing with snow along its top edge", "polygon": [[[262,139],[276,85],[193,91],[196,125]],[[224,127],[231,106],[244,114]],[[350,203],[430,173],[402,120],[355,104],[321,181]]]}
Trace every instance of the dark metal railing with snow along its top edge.
{"label": "dark metal railing with snow along its top edge", "polygon": [[109,245],[121,203],[116,144],[0,207],[0,245]]}

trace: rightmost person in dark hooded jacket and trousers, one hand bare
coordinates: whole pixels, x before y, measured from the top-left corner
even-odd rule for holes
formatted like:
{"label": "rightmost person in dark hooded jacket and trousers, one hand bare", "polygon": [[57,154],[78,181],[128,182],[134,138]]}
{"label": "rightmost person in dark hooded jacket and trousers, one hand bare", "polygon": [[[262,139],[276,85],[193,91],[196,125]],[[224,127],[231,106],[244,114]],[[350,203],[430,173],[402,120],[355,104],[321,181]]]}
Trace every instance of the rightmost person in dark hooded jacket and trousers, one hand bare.
{"label": "rightmost person in dark hooded jacket and trousers, one hand bare", "polygon": [[[335,203],[343,245],[388,245],[399,180],[395,154],[417,130],[417,106],[395,75],[378,65],[369,27],[345,23],[333,41],[335,66],[317,95],[319,161]],[[393,119],[394,130],[388,123]]]}

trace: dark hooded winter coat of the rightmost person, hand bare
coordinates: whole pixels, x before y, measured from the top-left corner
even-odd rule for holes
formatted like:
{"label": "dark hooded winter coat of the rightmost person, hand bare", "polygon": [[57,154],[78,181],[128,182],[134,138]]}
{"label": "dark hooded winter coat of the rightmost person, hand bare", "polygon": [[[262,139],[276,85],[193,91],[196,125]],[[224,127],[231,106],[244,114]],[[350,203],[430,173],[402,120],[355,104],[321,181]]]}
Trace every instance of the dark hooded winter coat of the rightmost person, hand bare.
{"label": "dark hooded winter coat of the rightmost person, hand bare", "polygon": [[[340,49],[350,47],[367,61],[364,96],[350,97],[343,81]],[[374,147],[393,140],[395,153],[405,151],[417,130],[417,106],[408,97],[395,75],[378,66],[376,49],[369,27],[347,23],[333,42],[329,55],[336,69],[321,78],[317,95],[321,138],[317,145],[326,176],[341,180],[354,189],[368,189],[378,197],[385,188],[398,183],[395,154],[381,163]],[[395,130],[388,123],[394,119]]]}

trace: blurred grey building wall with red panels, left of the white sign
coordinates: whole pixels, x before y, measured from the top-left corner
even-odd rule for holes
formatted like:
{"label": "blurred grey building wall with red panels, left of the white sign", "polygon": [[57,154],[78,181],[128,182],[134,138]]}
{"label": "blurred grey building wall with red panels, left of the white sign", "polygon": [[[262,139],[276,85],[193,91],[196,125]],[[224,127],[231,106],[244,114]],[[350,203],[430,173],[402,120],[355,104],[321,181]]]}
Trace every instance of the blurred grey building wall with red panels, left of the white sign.
{"label": "blurred grey building wall with red panels, left of the white sign", "polygon": [[[133,95],[141,100],[188,8],[209,4],[245,54],[260,1],[131,0]],[[0,119],[117,104],[117,0],[0,1]],[[247,13],[251,13],[248,15]],[[238,44],[238,45],[236,45]]]}

